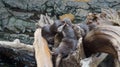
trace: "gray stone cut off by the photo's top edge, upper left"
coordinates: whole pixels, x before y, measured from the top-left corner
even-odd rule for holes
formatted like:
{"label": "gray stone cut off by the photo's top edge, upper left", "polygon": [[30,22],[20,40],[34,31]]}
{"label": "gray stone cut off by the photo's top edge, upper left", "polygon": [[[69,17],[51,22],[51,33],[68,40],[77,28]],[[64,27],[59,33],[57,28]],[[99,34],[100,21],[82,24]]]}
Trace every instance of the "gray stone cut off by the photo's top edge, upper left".
{"label": "gray stone cut off by the photo's top edge, upper left", "polygon": [[[4,0],[5,3],[9,4],[12,7],[18,7],[21,9],[37,9],[45,3],[47,0]],[[14,4],[14,5],[13,5]]]}

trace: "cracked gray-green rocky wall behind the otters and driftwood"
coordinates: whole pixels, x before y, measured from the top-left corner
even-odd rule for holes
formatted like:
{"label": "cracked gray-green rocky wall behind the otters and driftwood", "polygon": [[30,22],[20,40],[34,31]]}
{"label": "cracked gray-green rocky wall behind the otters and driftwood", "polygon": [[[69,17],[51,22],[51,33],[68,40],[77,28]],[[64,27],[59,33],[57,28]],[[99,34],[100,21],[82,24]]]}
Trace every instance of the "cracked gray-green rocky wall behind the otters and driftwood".
{"label": "cracked gray-green rocky wall behind the otters and driftwood", "polygon": [[83,22],[89,12],[101,11],[101,8],[113,8],[120,11],[120,0],[0,0],[0,40],[32,44],[35,23],[40,14],[48,14],[54,19],[60,15],[72,13],[76,23]]}

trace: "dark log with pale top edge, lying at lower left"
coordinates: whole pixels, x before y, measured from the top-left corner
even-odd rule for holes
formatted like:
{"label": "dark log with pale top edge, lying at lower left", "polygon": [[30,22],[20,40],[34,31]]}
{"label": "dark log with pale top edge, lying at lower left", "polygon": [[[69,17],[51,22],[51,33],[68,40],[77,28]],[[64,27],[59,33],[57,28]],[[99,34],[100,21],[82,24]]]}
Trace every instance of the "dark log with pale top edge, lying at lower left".
{"label": "dark log with pale top edge, lying at lower left", "polygon": [[19,39],[13,42],[0,41],[0,59],[17,67],[36,67],[33,46],[20,43]]}

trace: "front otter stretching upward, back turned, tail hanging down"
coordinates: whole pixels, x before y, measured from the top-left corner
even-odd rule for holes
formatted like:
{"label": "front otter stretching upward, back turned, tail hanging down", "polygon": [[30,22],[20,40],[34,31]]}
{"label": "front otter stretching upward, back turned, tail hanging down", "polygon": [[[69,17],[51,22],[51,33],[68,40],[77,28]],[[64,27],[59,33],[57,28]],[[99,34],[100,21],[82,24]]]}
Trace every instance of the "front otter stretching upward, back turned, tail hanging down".
{"label": "front otter stretching upward, back turned, tail hanging down", "polygon": [[66,58],[68,54],[75,51],[77,47],[77,37],[72,26],[65,22],[57,30],[58,32],[62,32],[63,38],[59,46],[53,50],[54,54],[57,55],[55,67],[59,67],[61,59]]}

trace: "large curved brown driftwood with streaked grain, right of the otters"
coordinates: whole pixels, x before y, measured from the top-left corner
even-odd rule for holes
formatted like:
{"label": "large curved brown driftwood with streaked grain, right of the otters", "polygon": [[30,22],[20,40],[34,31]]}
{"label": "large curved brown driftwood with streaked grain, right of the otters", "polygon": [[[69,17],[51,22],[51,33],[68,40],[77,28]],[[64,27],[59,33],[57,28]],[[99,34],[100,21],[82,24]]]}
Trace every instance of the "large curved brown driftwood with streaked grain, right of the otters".
{"label": "large curved brown driftwood with streaked grain, right of the otters", "polygon": [[[118,12],[109,8],[109,9],[102,9],[102,13],[100,14],[90,13],[87,16],[86,23],[88,24],[89,28],[92,30],[92,32],[89,32],[86,35],[83,41],[85,52],[87,52],[86,50],[89,51],[87,55],[90,55],[94,52],[95,53],[101,51],[107,52],[114,56],[115,65],[116,67],[119,67],[120,64],[119,28],[120,27],[118,26],[120,26],[120,17],[118,15]],[[87,46],[88,48],[86,48],[85,43],[89,45]],[[104,48],[101,48],[102,45],[104,45]],[[96,49],[94,49],[94,47]],[[89,49],[95,51],[92,52],[92,50],[90,51]],[[119,62],[117,60],[119,60]]]}

